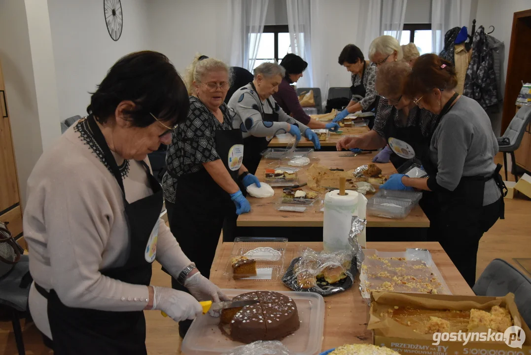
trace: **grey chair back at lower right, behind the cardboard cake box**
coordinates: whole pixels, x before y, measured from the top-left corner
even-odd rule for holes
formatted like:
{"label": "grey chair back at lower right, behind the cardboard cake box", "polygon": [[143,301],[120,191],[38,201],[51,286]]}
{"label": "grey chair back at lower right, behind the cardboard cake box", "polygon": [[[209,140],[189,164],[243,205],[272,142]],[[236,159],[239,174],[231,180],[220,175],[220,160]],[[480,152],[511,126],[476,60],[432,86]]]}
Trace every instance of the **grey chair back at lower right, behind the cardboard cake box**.
{"label": "grey chair back at lower right, behind the cardboard cake box", "polygon": [[531,279],[508,262],[494,259],[472,289],[477,296],[502,297],[514,293],[520,315],[527,325],[531,324]]}

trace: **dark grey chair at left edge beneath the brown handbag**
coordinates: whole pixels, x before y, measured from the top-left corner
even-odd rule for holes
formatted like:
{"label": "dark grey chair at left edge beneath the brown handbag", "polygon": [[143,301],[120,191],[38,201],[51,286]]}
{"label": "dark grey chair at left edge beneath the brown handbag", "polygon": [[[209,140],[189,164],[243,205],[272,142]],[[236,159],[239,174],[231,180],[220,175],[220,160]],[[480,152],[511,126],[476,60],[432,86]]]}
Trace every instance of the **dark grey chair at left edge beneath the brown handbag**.
{"label": "dark grey chair at left edge beneath the brown handbag", "polygon": [[13,333],[15,334],[16,349],[19,355],[24,355],[24,342],[20,317],[28,310],[28,296],[31,282],[24,281],[29,273],[29,257],[21,255],[20,261],[2,279],[0,279],[0,307],[6,307],[11,314]]}

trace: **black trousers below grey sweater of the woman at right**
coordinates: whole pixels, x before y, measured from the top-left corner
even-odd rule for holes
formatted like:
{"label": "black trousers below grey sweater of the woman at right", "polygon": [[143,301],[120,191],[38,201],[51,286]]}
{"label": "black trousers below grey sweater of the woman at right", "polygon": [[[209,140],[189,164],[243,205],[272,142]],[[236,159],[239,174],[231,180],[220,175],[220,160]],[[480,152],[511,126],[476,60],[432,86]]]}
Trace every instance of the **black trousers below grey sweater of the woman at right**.
{"label": "black trousers below grey sweater of the woman at right", "polygon": [[471,288],[476,282],[479,240],[500,217],[502,199],[478,209],[453,206],[457,213],[443,209],[435,221],[430,220],[428,240],[441,244]]}

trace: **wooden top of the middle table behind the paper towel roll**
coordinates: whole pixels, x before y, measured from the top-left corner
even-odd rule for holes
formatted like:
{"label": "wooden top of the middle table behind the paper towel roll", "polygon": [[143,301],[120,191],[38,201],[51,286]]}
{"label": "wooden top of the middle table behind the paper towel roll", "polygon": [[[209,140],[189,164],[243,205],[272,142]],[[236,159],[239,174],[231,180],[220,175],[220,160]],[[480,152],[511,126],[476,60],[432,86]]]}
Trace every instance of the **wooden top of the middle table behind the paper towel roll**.
{"label": "wooden top of the middle table behind the paper towel roll", "polygon": [[[314,152],[311,159],[314,163],[319,163],[326,167],[335,169],[355,169],[364,164],[369,164],[375,153],[360,154],[356,157],[341,157],[350,152]],[[260,181],[264,180],[266,168],[274,168],[278,161],[262,159],[256,177]],[[382,169],[383,175],[391,175],[396,172],[393,164],[376,164]],[[299,183],[307,181],[305,171],[311,163],[298,171]],[[247,200],[251,204],[251,212],[241,214],[237,220],[238,227],[322,227],[323,212],[320,212],[319,202],[309,207],[304,213],[277,211],[276,202],[282,196],[282,188],[275,187],[275,196],[269,198],[255,198],[247,195]],[[367,194],[370,198],[372,194]],[[430,227],[430,221],[422,211],[420,206],[416,206],[405,219],[389,219],[382,217],[367,216],[367,227]]]}

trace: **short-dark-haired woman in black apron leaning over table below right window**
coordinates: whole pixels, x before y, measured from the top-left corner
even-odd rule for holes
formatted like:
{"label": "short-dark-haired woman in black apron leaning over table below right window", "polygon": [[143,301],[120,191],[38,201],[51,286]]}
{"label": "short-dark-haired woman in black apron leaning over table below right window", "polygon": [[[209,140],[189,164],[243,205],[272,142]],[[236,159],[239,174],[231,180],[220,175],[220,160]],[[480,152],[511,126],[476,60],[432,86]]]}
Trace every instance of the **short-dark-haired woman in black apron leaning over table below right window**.
{"label": "short-dark-haired woman in black apron leaning over table below right window", "polygon": [[[344,119],[357,111],[370,112],[376,107],[378,94],[374,88],[376,65],[366,61],[362,51],[355,45],[347,45],[338,58],[339,65],[345,66],[352,73],[350,94],[352,99],[348,106],[339,112],[332,122]],[[373,116],[374,118],[374,116]],[[370,127],[372,127],[372,122]]]}

